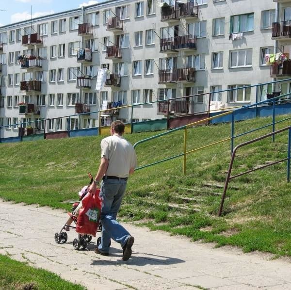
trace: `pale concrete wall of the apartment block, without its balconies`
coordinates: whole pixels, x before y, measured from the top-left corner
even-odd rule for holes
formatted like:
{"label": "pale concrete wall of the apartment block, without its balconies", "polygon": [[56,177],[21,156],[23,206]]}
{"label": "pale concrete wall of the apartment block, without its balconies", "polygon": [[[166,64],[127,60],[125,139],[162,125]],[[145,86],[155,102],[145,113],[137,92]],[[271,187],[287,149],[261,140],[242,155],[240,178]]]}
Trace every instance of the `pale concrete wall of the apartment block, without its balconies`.
{"label": "pale concrete wall of the apartment block, without its balconies", "polygon": [[[70,105],[68,98],[70,96],[72,97],[72,95],[69,94],[79,94],[79,102],[86,104],[85,94],[96,93],[93,96],[93,99],[96,97],[96,104],[90,105],[87,101],[87,104],[90,106],[90,111],[93,112],[102,108],[102,97],[106,94],[108,94],[108,102],[117,100],[113,99],[113,95],[118,94],[114,92],[124,92],[119,93],[119,99],[122,96],[123,104],[130,105],[132,103],[150,101],[150,99],[145,99],[146,90],[152,90],[152,101],[156,101],[167,97],[183,97],[186,94],[187,96],[195,95],[207,93],[210,90],[226,90],[241,85],[258,84],[273,80],[270,78],[270,66],[263,64],[262,59],[262,49],[271,49],[275,46],[275,41],[272,40],[271,29],[272,20],[275,21],[273,16],[275,15],[276,9],[276,3],[273,0],[198,0],[198,17],[174,19],[170,22],[161,21],[160,3],[155,0],[152,3],[154,7],[153,11],[147,11],[149,0],[107,1],[63,13],[39,17],[32,19],[32,22],[22,21],[0,27],[0,42],[3,42],[3,51],[0,52],[2,55],[0,55],[0,62],[2,63],[0,126],[13,124],[16,119],[17,122],[20,122],[23,120],[21,118],[30,118],[30,121],[34,121],[35,118],[60,118],[67,115],[74,115],[74,100],[71,101],[72,104]],[[284,5],[288,6],[288,3],[291,6],[291,1],[284,2]],[[109,19],[106,17],[108,14],[105,11],[112,10],[113,13],[111,16],[114,16],[117,13],[116,11],[118,11],[116,7],[121,7],[122,12],[120,13],[124,17],[123,30],[112,32],[107,30],[107,24],[104,23],[106,22],[104,19]],[[97,21],[93,26],[93,35],[78,36],[78,23],[91,23],[92,19],[91,16],[88,18],[88,14],[92,13],[94,13],[94,19]],[[96,13],[98,14],[97,16]],[[270,14],[267,25],[266,23],[262,25],[263,14],[264,17]],[[75,17],[79,17],[79,19]],[[218,18],[220,19],[217,20]],[[63,19],[65,19],[65,31],[61,32],[61,26],[64,23]],[[46,27],[40,27],[40,25],[45,23],[47,23]],[[53,31],[54,25],[56,31]],[[16,40],[16,34],[19,29],[21,35],[27,34],[25,28],[31,26],[32,33],[43,32],[43,44],[33,45],[28,48],[33,49],[32,53],[34,55],[42,55],[45,53],[43,51],[45,49],[38,50],[38,48],[47,48],[47,57],[42,60],[41,68],[27,70],[20,68],[20,64],[16,60],[16,51],[24,54],[24,50],[28,49],[22,45],[21,37],[19,40]],[[195,33],[197,36],[197,49],[178,49],[178,51],[172,51],[171,53],[160,52],[159,37],[162,37],[161,29],[165,27],[173,27],[173,29],[167,29],[167,37],[173,37],[171,35],[172,31],[177,31],[177,35],[181,35],[181,33]],[[146,38],[148,36],[148,32],[146,31],[152,29],[155,30],[155,34],[152,34],[151,41],[149,38]],[[5,32],[7,33],[7,41],[5,41],[5,35],[3,34]],[[138,33],[137,36],[137,32],[141,33]],[[230,39],[230,32],[242,32],[242,34],[238,34],[239,38],[237,39]],[[116,39],[116,35],[126,33],[128,33],[129,45],[127,47],[126,40],[122,43],[125,46],[125,48],[120,49],[122,58],[115,60],[106,59],[106,51],[103,48],[104,37],[108,37],[107,45],[111,46],[118,41],[118,37],[119,42],[121,42],[120,39],[123,36],[117,36]],[[236,37],[233,36],[234,34],[231,34],[233,38]],[[74,49],[85,48],[87,45],[86,41],[89,39],[94,39],[92,62],[85,64],[78,63],[77,50],[70,49],[69,43],[80,42],[74,44]],[[60,45],[62,44],[65,44],[64,56],[60,56]],[[56,47],[52,48],[53,46]],[[53,52],[53,49],[56,49],[55,52]],[[70,51],[73,55],[70,55]],[[9,63],[9,57],[12,58],[12,52],[14,54],[13,61]],[[30,52],[27,54],[30,54]],[[170,59],[171,57],[176,57],[176,60]],[[189,65],[195,67],[195,81],[159,83],[158,66],[162,63],[161,58],[168,58],[168,60],[165,60],[166,65],[171,66],[172,64],[170,63],[172,61],[173,63],[177,63],[177,66],[173,64],[174,68],[184,68]],[[153,60],[150,62],[152,68],[148,68],[146,60]],[[141,65],[134,63],[135,61],[141,61]],[[113,67],[115,67],[114,72],[116,72],[116,67],[118,66],[116,63],[125,63],[125,67],[127,67],[125,76],[121,76],[120,87],[104,86],[101,91],[96,92],[96,77],[93,76],[93,71],[100,68],[103,64],[109,64],[109,70],[113,72]],[[93,74],[91,89],[76,88],[74,74],[69,73],[69,68],[80,67],[82,74],[86,75],[85,65],[95,66],[91,70]],[[136,65],[135,69],[134,65]],[[119,64],[119,67],[121,66],[122,64]],[[148,68],[147,74],[146,67]],[[58,80],[59,69],[61,68],[64,69],[63,81]],[[50,79],[51,74],[53,74],[51,72],[52,70],[55,70],[55,80]],[[43,75],[38,71],[43,71]],[[24,72],[32,72],[32,75],[26,76],[27,81],[42,80],[41,92],[29,93],[20,91],[20,86],[16,83],[16,74],[19,74],[17,77],[18,80],[24,81],[22,75]],[[12,84],[9,84],[9,75],[12,76]],[[74,80],[69,80],[69,75],[73,76],[72,79]],[[165,94],[164,89],[170,89],[168,95]],[[174,93],[171,89],[176,90],[176,92]],[[238,93],[230,96],[229,93],[225,92],[219,96],[217,94],[212,97],[213,100],[219,100],[225,103],[226,106],[239,106],[256,101],[256,90],[254,88],[250,90],[242,89],[240,91],[242,92],[241,95]],[[169,94],[169,92],[173,92],[173,95]],[[59,102],[59,98],[61,97],[59,94],[63,94],[63,104]],[[45,103],[43,105],[40,103],[42,97],[36,97],[37,95],[45,96]],[[18,99],[15,96],[19,96]],[[28,97],[25,99],[22,96],[32,97],[31,99]],[[75,95],[73,95],[74,97]],[[86,97],[89,97],[89,95],[86,95]],[[15,101],[15,98],[17,101]],[[36,101],[37,98],[38,101]],[[53,98],[54,101],[52,101]],[[40,114],[19,114],[17,104],[22,100],[26,103],[29,101],[34,105],[40,104]],[[192,112],[188,113],[208,110],[209,95],[205,95],[202,98],[193,97],[191,100],[194,107]],[[162,113],[158,113],[157,107],[157,103],[137,105],[133,110],[132,119],[134,121],[143,121],[161,118]],[[113,118],[120,118],[126,122],[130,122],[131,109],[120,110],[120,114]],[[78,121],[71,124],[72,129],[77,127],[82,129],[99,126],[97,113],[76,116],[76,119]],[[65,130],[65,123],[66,121],[64,119],[61,124],[57,124],[57,121],[55,121],[48,126],[50,126],[50,130]],[[1,129],[0,131],[2,138],[17,135],[17,128],[11,127],[9,129]]]}

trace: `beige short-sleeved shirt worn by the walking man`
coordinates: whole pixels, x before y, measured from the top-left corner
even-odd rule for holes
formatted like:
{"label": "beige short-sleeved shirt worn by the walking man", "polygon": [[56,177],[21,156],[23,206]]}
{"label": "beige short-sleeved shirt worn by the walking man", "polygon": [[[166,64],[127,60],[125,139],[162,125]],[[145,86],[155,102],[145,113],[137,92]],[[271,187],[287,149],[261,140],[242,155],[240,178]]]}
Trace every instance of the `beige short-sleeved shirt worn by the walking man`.
{"label": "beige short-sleeved shirt worn by the walking man", "polygon": [[108,159],[107,176],[128,177],[129,169],[136,167],[133,146],[122,136],[109,136],[101,141],[101,158]]}

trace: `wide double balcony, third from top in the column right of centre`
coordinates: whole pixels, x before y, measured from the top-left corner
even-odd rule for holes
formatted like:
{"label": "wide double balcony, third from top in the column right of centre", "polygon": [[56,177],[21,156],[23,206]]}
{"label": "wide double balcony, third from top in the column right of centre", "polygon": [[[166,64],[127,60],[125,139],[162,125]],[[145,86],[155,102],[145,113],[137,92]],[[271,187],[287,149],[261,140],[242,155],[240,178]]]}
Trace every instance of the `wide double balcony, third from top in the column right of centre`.
{"label": "wide double balcony, third from top in the column right of centre", "polygon": [[159,83],[195,82],[195,68],[159,70]]}

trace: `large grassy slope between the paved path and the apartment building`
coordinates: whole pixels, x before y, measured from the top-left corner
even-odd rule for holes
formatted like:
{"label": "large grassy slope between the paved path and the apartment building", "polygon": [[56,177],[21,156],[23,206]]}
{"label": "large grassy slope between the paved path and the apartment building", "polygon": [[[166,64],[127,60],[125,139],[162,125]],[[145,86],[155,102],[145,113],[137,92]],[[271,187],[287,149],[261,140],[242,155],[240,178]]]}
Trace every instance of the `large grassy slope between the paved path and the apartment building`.
{"label": "large grassy slope between the paved path and the apartment building", "polygon": [[[276,117],[276,120],[286,116]],[[235,134],[261,127],[271,118],[235,124]],[[276,125],[287,127],[289,121]],[[235,145],[258,137],[271,127],[235,139]],[[134,144],[159,132],[126,135]],[[183,152],[183,130],[143,143],[136,148],[138,165],[145,165]],[[187,150],[230,136],[230,124],[201,126],[188,130]],[[1,144],[0,197],[5,200],[69,209],[66,202],[78,199],[77,192],[88,182],[87,172],[96,174],[100,140],[80,137]],[[238,150],[232,174],[287,157],[287,131]],[[229,183],[222,217],[217,211],[230,161],[230,142],[214,145],[187,157],[135,172],[129,178],[119,219],[185,235],[193,241],[237,245],[243,251],[259,250],[291,256],[291,194],[286,182],[286,162],[233,179]]]}

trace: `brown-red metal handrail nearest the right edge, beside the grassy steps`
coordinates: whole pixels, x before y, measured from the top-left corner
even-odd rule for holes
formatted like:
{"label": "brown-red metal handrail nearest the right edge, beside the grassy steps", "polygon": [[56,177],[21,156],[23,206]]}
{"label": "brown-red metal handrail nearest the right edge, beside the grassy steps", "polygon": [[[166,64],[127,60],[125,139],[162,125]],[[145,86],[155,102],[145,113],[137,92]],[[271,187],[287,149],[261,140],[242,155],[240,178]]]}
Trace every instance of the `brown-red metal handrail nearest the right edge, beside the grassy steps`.
{"label": "brown-red metal handrail nearest the right edge, beside the grassy steps", "polygon": [[[242,173],[239,173],[239,174],[236,174],[234,176],[230,176],[231,174],[231,169],[232,169],[232,165],[233,165],[233,161],[234,161],[234,158],[235,158],[235,154],[236,154],[236,151],[240,148],[240,147],[243,147],[245,145],[249,145],[251,143],[255,143],[257,141],[260,141],[262,139],[265,139],[265,138],[268,138],[270,136],[274,136],[278,133],[281,133],[283,131],[286,131],[286,130],[289,130],[289,135],[288,135],[288,157],[287,158],[283,158],[281,160],[278,160],[278,161],[274,161],[274,162],[271,162],[271,163],[268,163],[266,165],[262,165],[260,167],[257,167],[257,168],[254,168],[254,169],[251,169],[251,170],[248,170],[248,171],[245,171],[245,172],[242,172]],[[231,155],[231,160],[230,160],[230,163],[229,163],[229,167],[228,167],[228,171],[227,171],[227,175],[226,175],[226,182],[225,182],[225,186],[224,186],[224,190],[223,190],[223,194],[221,196],[221,203],[220,203],[220,207],[219,207],[219,210],[218,210],[218,216],[221,216],[221,213],[222,213],[222,209],[223,209],[223,205],[224,205],[224,200],[225,200],[225,197],[226,197],[226,190],[227,190],[227,186],[228,186],[228,183],[229,183],[229,180],[230,179],[233,179],[233,178],[236,178],[236,177],[240,177],[242,175],[245,175],[245,174],[248,174],[250,172],[253,172],[255,170],[258,170],[258,169],[261,169],[261,168],[265,168],[265,167],[268,167],[268,166],[271,166],[271,165],[274,165],[274,164],[277,164],[279,162],[282,162],[282,161],[286,161],[287,160],[287,182],[290,182],[290,149],[291,149],[291,126],[288,126],[288,127],[285,127],[283,129],[279,129],[275,132],[271,132],[271,133],[268,133],[268,134],[265,134],[261,137],[258,137],[258,138],[255,138],[255,139],[252,139],[252,140],[249,140],[247,142],[244,142],[244,143],[241,143],[240,145],[237,145],[233,152],[232,152],[232,155]]]}

